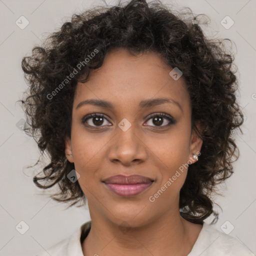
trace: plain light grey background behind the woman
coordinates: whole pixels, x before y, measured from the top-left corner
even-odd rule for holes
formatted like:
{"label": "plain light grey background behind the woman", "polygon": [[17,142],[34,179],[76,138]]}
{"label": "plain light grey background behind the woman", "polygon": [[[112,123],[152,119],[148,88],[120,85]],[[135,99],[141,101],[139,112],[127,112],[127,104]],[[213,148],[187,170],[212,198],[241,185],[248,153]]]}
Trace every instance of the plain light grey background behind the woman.
{"label": "plain light grey background behind the woman", "polygon": [[[115,2],[106,0],[110,5]],[[234,226],[229,235],[256,253],[256,1],[163,2],[189,6],[194,13],[207,14],[211,19],[211,30],[205,28],[205,32],[235,42],[232,47],[239,69],[239,99],[246,113],[244,134],[237,135],[240,158],[234,164],[235,173],[226,181],[226,185],[219,187],[224,196],[215,198],[223,212],[220,211],[219,220],[214,226],[226,232]],[[22,56],[29,55],[32,46],[40,43],[48,32],[58,29],[73,12],[88,8],[91,4],[103,3],[99,0],[0,0],[0,255],[35,255],[70,236],[80,224],[89,220],[87,206],[65,209],[65,204],[56,203],[48,197],[50,190],[41,192],[33,184],[33,171],[37,173],[40,169],[38,166],[27,169],[26,166],[35,163],[39,152],[34,140],[16,126],[17,123],[22,124],[24,114],[19,103],[15,102],[26,89],[20,67]],[[15,23],[21,15],[29,21],[24,29]],[[220,23],[226,15],[234,21],[229,29]],[[230,21],[225,22],[228,25]],[[24,234],[15,228],[21,220],[29,226]],[[210,219],[206,219],[206,222],[209,223]]]}

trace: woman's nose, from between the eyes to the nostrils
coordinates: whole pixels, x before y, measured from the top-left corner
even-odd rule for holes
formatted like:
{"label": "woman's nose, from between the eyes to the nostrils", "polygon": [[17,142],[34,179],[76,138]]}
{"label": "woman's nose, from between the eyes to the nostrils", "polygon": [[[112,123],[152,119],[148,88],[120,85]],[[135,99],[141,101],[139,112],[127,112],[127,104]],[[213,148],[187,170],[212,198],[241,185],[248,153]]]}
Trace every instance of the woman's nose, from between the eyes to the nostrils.
{"label": "woman's nose, from between the eyes to the nostrils", "polygon": [[145,161],[148,153],[142,140],[135,125],[131,125],[126,131],[117,127],[108,151],[109,160],[125,166]]}

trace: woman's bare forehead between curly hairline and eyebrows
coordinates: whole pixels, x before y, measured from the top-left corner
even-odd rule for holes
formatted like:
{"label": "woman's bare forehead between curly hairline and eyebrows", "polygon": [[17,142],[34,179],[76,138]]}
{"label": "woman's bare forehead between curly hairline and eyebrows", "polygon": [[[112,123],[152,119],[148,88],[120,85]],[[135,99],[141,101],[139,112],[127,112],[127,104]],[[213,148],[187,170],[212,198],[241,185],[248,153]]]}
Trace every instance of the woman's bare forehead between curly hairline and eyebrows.
{"label": "woman's bare forehead between curly hairline and eyebrows", "polygon": [[74,104],[94,98],[107,99],[119,107],[137,105],[142,99],[168,97],[189,107],[184,79],[181,76],[174,80],[169,75],[172,68],[155,52],[133,56],[126,49],[113,49],[106,53],[100,68],[90,71],[88,81],[77,83]]}

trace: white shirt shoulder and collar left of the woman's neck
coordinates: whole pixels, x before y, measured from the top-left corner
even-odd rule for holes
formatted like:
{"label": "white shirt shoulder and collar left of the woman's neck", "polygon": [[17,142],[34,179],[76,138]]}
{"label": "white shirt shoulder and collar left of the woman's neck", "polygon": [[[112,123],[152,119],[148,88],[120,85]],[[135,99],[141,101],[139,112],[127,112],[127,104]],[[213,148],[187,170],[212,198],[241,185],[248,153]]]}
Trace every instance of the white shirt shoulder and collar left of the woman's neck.
{"label": "white shirt shoulder and collar left of the woman's neck", "polygon": [[44,249],[35,256],[83,256],[80,238],[88,233],[90,221],[83,223],[69,237]]}

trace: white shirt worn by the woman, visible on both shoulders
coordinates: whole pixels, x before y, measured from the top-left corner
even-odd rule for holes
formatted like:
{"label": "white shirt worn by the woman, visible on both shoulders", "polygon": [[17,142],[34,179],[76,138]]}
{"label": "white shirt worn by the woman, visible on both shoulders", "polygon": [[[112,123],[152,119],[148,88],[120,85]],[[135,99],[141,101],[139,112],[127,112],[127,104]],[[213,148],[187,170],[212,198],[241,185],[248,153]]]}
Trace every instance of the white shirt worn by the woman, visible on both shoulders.
{"label": "white shirt worn by the woman, visible on both shoulders", "polygon": [[[83,230],[88,234],[91,221],[83,223],[71,236],[42,251],[35,256],[84,256],[80,243]],[[192,250],[187,256],[252,256],[247,247],[230,235],[222,233],[203,222],[202,229]]]}

